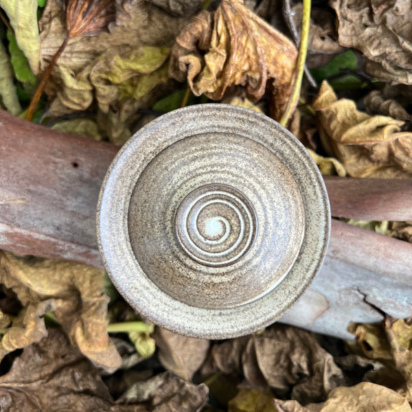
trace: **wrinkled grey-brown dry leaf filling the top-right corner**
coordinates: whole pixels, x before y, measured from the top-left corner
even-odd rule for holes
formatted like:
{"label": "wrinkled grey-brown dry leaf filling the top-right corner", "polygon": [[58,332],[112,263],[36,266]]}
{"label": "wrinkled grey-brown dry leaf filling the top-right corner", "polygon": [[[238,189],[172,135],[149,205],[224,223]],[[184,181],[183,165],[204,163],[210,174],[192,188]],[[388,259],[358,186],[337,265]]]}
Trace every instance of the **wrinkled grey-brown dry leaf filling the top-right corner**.
{"label": "wrinkled grey-brown dry leaf filling the top-right corner", "polygon": [[412,3],[409,0],[332,0],[339,43],[360,50],[371,76],[412,84]]}

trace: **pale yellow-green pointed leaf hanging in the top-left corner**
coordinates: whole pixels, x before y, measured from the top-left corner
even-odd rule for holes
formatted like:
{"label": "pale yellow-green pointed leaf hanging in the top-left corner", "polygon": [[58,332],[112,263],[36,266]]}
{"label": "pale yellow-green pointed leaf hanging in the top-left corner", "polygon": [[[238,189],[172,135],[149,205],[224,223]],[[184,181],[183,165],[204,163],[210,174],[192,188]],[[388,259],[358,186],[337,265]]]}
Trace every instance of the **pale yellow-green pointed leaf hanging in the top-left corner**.
{"label": "pale yellow-green pointed leaf hanging in the top-left corner", "polygon": [[13,27],[16,41],[23,51],[33,73],[40,67],[40,40],[38,38],[37,0],[0,0]]}

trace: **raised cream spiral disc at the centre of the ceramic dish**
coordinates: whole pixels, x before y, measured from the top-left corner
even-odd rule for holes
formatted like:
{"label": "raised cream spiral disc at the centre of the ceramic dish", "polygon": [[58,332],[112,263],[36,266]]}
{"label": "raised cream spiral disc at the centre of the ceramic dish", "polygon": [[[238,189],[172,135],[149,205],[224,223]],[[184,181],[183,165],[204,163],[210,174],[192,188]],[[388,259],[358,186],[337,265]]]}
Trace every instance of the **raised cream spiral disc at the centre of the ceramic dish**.
{"label": "raised cream spiral disc at the centre of the ceramic dish", "polygon": [[228,185],[204,185],[188,194],[176,213],[183,250],[206,266],[238,262],[251,248],[257,227],[247,198]]}

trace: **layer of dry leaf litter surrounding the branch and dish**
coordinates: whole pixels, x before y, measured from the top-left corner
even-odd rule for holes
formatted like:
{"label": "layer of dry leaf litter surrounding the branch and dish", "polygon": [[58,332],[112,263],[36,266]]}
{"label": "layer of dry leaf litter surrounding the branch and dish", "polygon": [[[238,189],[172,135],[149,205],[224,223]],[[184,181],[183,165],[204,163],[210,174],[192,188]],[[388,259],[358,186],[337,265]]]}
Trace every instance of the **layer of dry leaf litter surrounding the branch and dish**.
{"label": "layer of dry leaf litter surrounding the branch and dish", "polygon": [[[123,144],[161,112],[207,100],[279,119],[301,3],[286,17],[275,0],[209,3],[0,0],[15,34],[0,32],[1,104],[21,113],[77,27],[40,102],[57,130]],[[323,174],[410,179],[410,4],[330,5],[312,8],[307,59],[327,81],[304,84],[290,130]],[[412,240],[411,222],[352,223]],[[411,411],[411,319],[353,324],[355,341],[334,350],[285,325],[214,342],[154,328],[119,295],[109,302],[104,272],[88,266],[1,252],[0,281],[4,411]]]}

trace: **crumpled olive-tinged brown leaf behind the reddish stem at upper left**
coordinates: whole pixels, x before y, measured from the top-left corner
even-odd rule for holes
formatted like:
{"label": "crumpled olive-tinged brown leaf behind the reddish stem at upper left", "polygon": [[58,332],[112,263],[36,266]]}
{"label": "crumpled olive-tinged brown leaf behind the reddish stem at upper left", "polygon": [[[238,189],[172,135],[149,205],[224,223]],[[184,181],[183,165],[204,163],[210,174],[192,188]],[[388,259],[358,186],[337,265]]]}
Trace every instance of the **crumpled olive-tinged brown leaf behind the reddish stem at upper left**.
{"label": "crumpled olive-tinged brown leaf behind the reddish stem at upper left", "polygon": [[[110,33],[73,38],[60,56],[46,91],[49,115],[82,111],[98,102],[100,132],[123,144],[139,119],[139,108],[150,107],[167,80],[168,47],[190,15],[172,16],[146,1],[117,1]],[[59,0],[47,1],[39,22],[41,61],[52,59],[65,38],[65,12]]]}

